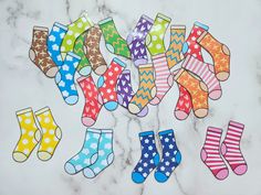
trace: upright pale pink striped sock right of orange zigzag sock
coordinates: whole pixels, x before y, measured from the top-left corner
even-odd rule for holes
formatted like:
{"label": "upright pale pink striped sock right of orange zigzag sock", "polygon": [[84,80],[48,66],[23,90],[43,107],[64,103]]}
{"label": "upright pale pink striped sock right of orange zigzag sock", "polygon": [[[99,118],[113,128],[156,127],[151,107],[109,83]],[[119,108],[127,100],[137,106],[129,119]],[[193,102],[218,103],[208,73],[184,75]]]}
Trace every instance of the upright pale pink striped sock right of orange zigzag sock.
{"label": "upright pale pink striped sock right of orange zigzag sock", "polygon": [[167,91],[171,88],[174,78],[168,68],[167,57],[165,54],[159,54],[153,56],[153,64],[155,68],[155,85],[156,85],[156,96],[149,102],[150,105],[158,105]]}

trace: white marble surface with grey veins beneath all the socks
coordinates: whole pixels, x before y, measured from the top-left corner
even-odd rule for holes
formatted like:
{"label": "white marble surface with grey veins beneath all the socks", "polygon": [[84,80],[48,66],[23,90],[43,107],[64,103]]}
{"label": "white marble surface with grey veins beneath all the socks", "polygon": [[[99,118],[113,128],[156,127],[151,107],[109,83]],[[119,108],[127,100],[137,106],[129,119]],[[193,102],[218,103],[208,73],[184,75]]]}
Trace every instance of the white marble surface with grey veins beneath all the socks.
{"label": "white marble surface with grey veins beneath all the socks", "polygon": [[[142,3],[140,3],[142,2]],[[146,118],[139,119],[118,108],[102,110],[96,128],[114,129],[114,163],[95,180],[82,173],[70,176],[65,161],[82,147],[85,127],[81,123],[83,95],[76,106],[62,100],[54,80],[46,78],[29,59],[33,25],[51,28],[59,21],[67,24],[86,10],[93,21],[113,17],[119,33],[126,36],[145,13],[157,12],[186,24],[187,33],[196,20],[210,26],[210,32],[231,51],[231,76],[222,84],[223,96],[210,101],[210,115],[198,120],[192,115],[186,121],[174,118],[178,98],[177,86],[158,107],[149,107]],[[261,1],[260,0],[0,0],[0,195],[260,195],[261,194]],[[169,32],[167,33],[169,34]],[[168,35],[169,36],[169,35]],[[168,44],[166,39],[166,45]],[[105,53],[106,61],[113,55]],[[138,84],[137,69],[129,63],[133,85]],[[15,163],[11,153],[19,138],[15,110],[25,107],[38,110],[50,106],[63,130],[63,139],[49,162],[41,162],[35,151],[25,163]],[[206,128],[226,129],[230,119],[243,122],[241,149],[249,170],[243,176],[217,181],[200,161]],[[174,128],[182,162],[169,181],[158,184],[153,174],[137,185],[130,173],[139,159],[137,133],[146,130]]]}

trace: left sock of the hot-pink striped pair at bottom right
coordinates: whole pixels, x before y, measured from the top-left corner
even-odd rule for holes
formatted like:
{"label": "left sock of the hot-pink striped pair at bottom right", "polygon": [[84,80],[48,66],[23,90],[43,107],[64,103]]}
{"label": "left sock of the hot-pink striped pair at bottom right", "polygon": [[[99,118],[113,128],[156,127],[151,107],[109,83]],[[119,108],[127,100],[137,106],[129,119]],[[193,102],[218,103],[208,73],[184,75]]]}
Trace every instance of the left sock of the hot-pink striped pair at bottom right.
{"label": "left sock of the hot-pink striped pair at bottom right", "polygon": [[201,149],[201,160],[218,180],[225,180],[228,174],[228,166],[220,155],[219,145],[222,130],[208,127],[205,144]]}

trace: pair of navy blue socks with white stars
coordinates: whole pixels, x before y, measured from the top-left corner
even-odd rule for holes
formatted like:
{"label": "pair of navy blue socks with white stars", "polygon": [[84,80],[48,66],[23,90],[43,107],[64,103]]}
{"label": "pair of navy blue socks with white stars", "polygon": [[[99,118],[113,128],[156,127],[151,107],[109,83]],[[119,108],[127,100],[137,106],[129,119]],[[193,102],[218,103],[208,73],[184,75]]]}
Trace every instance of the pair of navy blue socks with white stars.
{"label": "pair of navy blue socks with white stars", "polygon": [[160,131],[158,136],[163,148],[161,160],[156,148],[154,132],[139,133],[142,155],[132,173],[132,180],[135,183],[144,183],[155,169],[154,176],[156,181],[166,182],[181,162],[181,153],[176,144],[174,130]]}

